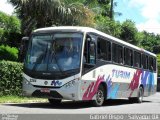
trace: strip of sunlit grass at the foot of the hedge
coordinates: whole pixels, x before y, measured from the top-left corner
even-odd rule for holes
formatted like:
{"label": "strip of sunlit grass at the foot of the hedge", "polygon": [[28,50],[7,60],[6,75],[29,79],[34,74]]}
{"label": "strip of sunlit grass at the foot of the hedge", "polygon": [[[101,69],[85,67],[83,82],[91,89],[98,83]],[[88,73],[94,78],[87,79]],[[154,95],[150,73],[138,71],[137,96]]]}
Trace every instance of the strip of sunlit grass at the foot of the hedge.
{"label": "strip of sunlit grass at the foot of the hedge", "polygon": [[33,98],[33,97],[20,97],[20,96],[1,96],[0,103],[34,103],[34,102],[47,102],[47,99]]}

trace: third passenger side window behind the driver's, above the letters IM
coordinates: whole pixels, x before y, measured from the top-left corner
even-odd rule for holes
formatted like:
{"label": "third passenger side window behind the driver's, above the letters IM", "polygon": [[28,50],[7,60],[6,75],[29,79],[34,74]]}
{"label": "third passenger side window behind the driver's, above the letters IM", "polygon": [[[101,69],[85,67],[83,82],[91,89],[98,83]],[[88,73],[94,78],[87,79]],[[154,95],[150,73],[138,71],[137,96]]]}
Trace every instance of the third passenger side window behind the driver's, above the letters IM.
{"label": "third passenger side window behind the driver's, above the letters IM", "polygon": [[124,64],[133,66],[133,51],[128,48],[124,50]]}

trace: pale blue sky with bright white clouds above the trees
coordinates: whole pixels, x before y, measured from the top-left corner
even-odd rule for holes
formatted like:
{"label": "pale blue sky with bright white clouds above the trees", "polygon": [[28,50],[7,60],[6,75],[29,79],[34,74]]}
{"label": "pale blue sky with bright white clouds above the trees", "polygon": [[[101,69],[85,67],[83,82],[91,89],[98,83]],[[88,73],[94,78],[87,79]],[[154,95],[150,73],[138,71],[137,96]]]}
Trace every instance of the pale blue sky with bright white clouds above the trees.
{"label": "pale blue sky with bright white clouds above the trees", "polygon": [[[122,13],[115,20],[123,22],[130,19],[135,22],[139,31],[160,34],[160,0],[114,0],[117,2],[115,11]],[[9,15],[14,8],[7,0],[0,0],[0,11]]]}

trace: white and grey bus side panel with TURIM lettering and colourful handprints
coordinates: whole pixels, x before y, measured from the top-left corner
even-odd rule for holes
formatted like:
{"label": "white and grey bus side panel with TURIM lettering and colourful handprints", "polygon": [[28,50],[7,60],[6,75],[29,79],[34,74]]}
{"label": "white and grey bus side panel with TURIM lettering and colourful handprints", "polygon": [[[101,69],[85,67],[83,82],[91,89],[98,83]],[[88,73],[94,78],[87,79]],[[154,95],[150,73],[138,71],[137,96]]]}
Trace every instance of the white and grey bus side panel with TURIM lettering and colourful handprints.
{"label": "white and grey bus side panel with TURIM lettering and colourful handprints", "polygon": [[156,73],[117,65],[104,65],[82,76],[82,100],[93,100],[101,82],[106,83],[107,99],[137,97],[140,85],[145,96],[155,93]]}

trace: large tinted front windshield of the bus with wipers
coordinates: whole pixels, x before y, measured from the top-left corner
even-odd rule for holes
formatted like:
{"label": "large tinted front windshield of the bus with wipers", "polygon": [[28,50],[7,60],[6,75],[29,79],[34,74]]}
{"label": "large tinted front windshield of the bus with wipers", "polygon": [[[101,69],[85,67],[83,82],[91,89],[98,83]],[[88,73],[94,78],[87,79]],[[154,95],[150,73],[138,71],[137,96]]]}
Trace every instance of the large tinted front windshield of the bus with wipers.
{"label": "large tinted front windshield of the bus with wipers", "polygon": [[49,73],[79,69],[82,39],[82,33],[33,34],[24,66]]}

